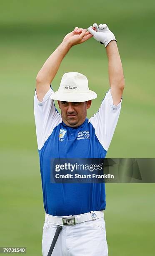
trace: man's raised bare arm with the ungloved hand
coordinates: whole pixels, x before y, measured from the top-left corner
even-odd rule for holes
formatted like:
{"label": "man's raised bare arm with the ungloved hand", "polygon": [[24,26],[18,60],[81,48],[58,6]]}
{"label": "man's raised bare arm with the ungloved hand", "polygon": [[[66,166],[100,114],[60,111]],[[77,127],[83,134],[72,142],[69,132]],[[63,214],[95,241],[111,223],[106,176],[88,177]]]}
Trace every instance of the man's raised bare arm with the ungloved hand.
{"label": "man's raised bare arm with the ungloved hand", "polygon": [[92,35],[83,28],[75,28],[65,36],[60,46],[45,61],[36,77],[36,93],[39,101],[43,100],[46,92],[50,89],[50,84],[60,67],[62,59],[70,48],[76,44],[81,44],[88,40]]}

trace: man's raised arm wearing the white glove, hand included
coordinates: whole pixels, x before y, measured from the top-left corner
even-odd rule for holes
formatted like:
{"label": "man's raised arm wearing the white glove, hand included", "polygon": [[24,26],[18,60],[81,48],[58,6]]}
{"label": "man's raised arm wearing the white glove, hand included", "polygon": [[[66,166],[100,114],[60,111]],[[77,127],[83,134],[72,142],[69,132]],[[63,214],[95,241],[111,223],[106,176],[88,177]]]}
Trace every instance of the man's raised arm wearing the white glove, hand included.
{"label": "man's raised arm wearing the white glove, hand included", "polygon": [[108,58],[110,92],[112,95],[113,104],[118,105],[122,98],[125,81],[115,36],[109,30],[106,24],[100,24],[97,26],[95,23],[93,27],[88,28],[88,31],[97,41],[99,41],[101,44],[104,44],[106,47],[105,49],[107,51]]}

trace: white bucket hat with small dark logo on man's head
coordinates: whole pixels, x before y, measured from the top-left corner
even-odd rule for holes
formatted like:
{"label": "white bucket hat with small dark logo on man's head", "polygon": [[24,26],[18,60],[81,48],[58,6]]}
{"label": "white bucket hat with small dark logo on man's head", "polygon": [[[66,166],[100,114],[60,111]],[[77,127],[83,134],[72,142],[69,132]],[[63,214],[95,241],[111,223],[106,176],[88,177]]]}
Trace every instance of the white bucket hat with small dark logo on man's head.
{"label": "white bucket hat with small dark logo on man's head", "polygon": [[97,94],[89,90],[87,77],[77,72],[65,73],[58,91],[50,96],[52,100],[68,102],[84,102],[96,97]]}

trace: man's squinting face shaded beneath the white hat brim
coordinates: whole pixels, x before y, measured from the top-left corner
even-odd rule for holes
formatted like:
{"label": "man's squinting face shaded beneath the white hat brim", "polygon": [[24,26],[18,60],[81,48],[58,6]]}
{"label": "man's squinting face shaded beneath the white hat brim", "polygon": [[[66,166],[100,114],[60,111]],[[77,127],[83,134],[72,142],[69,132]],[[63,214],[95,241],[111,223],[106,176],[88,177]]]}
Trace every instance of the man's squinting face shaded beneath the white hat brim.
{"label": "man's squinting face shaded beneath the white hat brim", "polygon": [[87,109],[90,108],[92,101],[67,102],[59,101],[62,121],[70,127],[77,127],[84,123],[87,116]]}

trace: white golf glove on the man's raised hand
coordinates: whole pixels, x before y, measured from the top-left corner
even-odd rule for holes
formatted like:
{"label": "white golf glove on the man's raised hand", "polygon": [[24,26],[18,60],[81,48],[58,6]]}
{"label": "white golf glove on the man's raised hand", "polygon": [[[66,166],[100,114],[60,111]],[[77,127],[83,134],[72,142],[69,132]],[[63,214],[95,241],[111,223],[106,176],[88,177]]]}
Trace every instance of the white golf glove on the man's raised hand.
{"label": "white golf glove on the man's raised hand", "polygon": [[96,28],[96,31],[93,30],[92,27],[89,27],[87,30],[94,36],[97,41],[99,41],[101,44],[104,44],[105,47],[109,44],[110,41],[116,41],[114,34],[109,30],[106,24],[100,24],[97,26],[95,23],[93,24],[93,27]]}

